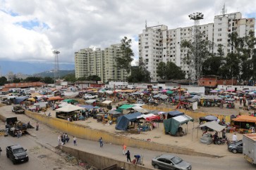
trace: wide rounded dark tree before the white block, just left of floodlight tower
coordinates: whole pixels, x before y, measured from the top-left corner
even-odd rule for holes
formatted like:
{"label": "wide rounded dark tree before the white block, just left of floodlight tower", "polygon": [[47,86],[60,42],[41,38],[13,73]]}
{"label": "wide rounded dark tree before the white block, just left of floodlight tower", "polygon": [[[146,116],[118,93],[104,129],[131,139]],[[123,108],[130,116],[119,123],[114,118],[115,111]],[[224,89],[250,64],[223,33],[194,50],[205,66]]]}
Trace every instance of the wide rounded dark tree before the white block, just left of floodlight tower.
{"label": "wide rounded dark tree before the white block, just left of floodlight tower", "polygon": [[175,63],[160,62],[157,66],[157,76],[161,79],[185,79],[185,73]]}

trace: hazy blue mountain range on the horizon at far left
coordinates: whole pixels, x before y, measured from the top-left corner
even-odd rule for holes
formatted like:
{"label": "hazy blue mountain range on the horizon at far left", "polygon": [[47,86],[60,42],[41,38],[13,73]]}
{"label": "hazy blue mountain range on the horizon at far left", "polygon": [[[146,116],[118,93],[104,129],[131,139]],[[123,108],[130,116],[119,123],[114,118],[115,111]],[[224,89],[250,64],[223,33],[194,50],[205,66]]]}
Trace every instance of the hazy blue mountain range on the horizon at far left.
{"label": "hazy blue mountain range on the horizon at far left", "polygon": [[[19,62],[10,60],[0,60],[0,75],[4,76],[8,72],[13,72],[13,74],[36,74],[39,72],[52,72],[54,70],[54,63],[44,63],[44,62]],[[74,63],[59,63],[59,70],[73,71],[75,70]],[[61,74],[61,72],[60,72]]]}

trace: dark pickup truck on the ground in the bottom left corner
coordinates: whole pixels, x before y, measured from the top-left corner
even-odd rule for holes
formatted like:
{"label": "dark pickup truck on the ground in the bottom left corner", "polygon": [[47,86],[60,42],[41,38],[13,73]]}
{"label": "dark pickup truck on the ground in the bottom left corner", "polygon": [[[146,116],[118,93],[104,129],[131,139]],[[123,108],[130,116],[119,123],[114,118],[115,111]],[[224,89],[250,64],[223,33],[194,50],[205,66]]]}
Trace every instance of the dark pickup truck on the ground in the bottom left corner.
{"label": "dark pickup truck on the ground in the bottom left corner", "polygon": [[6,157],[10,158],[13,164],[18,162],[28,162],[28,154],[21,145],[11,145],[6,147]]}

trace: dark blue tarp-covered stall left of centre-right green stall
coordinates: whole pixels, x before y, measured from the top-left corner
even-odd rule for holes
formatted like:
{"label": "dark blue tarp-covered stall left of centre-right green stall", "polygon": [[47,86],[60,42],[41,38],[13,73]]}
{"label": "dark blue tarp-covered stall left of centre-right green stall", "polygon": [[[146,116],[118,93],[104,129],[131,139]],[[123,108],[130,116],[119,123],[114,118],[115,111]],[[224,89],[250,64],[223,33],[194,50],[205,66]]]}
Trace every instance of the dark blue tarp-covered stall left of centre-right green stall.
{"label": "dark blue tarp-covered stall left of centre-right green stall", "polygon": [[128,115],[123,115],[117,118],[116,130],[127,131],[129,122],[133,122],[142,115],[140,112],[135,112]]}

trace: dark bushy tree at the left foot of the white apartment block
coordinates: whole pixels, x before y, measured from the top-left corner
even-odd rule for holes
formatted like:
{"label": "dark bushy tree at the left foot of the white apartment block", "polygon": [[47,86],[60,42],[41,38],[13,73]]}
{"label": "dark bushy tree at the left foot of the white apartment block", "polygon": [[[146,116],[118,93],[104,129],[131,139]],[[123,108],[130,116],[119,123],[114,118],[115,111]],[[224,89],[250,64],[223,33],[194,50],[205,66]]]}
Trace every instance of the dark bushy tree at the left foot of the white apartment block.
{"label": "dark bushy tree at the left foot of the white apartment block", "polygon": [[140,60],[138,64],[138,66],[131,67],[131,74],[127,80],[133,83],[150,82],[150,72],[146,69],[145,63]]}

